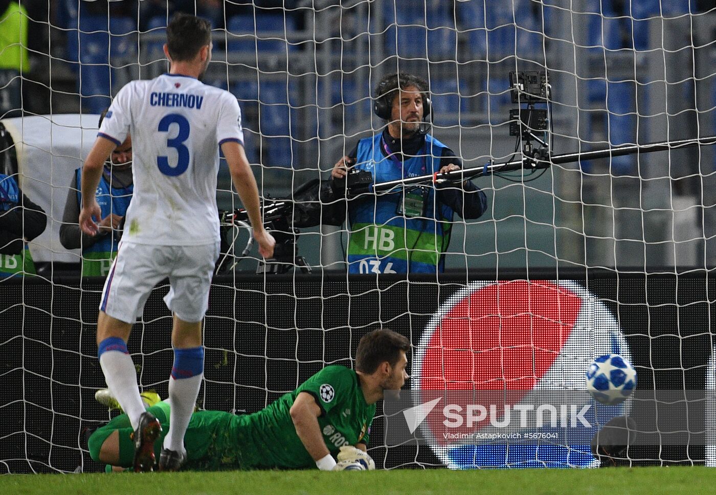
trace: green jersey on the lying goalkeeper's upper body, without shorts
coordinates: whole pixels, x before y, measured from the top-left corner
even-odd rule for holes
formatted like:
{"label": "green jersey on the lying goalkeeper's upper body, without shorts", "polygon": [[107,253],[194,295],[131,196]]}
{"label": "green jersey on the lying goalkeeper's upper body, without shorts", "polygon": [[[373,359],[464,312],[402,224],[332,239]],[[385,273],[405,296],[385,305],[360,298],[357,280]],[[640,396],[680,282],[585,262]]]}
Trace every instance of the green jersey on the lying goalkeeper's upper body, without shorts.
{"label": "green jersey on the lying goalkeeper's upper body, without shorts", "polygon": [[296,434],[289,410],[296,396],[306,392],[321,408],[319,426],[326,447],[336,454],[344,445],[368,444],[375,404],[365,402],[358,375],[344,366],[327,366],[293,392],[253,414],[235,416],[231,431],[236,435],[241,468],[304,468],[315,466]]}

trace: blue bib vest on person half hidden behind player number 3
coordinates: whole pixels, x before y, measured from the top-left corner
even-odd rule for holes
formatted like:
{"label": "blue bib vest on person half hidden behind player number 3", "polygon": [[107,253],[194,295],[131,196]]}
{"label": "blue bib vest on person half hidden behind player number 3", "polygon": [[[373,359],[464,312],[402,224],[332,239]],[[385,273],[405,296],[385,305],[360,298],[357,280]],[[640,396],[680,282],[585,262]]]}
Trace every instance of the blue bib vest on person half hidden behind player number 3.
{"label": "blue bib vest on person half hidden behind player number 3", "polygon": [[[82,168],[75,170],[77,177],[77,189],[82,184]],[[107,182],[105,175],[102,174],[100,185],[97,186],[97,203],[102,209],[102,218],[110,213],[125,216],[127,208],[130,206],[132,199],[132,191],[134,184],[130,184],[126,188],[113,188]],[[82,193],[77,191],[77,203],[82,204]],[[102,218],[95,218],[96,222]],[[82,249],[82,276],[83,277],[106,277],[110,272],[112,260],[117,256],[117,244],[119,244],[118,236],[112,234],[100,235],[100,240],[92,246]]]}

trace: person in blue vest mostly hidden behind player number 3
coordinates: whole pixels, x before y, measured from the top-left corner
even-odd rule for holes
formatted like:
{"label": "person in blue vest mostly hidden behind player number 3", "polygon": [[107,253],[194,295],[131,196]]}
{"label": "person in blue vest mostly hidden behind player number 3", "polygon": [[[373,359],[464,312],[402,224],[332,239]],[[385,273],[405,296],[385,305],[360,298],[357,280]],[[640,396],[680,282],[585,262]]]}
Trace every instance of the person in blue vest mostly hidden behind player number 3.
{"label": "person in blue vest mostly hidden behind player number 3", "polygon": [[[100,115],[100,123],[112,115],[105,110]],[[97,203],[102,208],[102,218],[97,218],[100,233],[88,236],[79,229],[79,205],[82,194],[82,168],[77,168],[72,177],[64,205],[62,226],[59,228],[59,241],[66,249],[82,249],[82,276],[106,277],[117,256],[117,245],[122,236],[125,213],[132,199],[132,138],[117,146],[110,159],[105,163],[100,186],[97,187]]]}

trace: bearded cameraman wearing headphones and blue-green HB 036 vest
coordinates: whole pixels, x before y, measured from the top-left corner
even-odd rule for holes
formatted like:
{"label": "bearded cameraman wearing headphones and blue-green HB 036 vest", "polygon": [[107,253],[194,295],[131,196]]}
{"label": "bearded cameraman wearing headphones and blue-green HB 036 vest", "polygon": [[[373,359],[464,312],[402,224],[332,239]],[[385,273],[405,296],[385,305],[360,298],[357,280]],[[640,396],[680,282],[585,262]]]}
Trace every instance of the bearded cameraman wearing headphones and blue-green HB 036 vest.
{"label": "bearded cameraman wearing headphones and blue-green HB 036 vest", "polygon": [[[374,183],[382,183],[459,170],[460,158],[427,133],[430,110],[425,80],[405,73],[384,77],[375,90],[374,112],[387,125],[382,133],[359,140],[336,163],[332,177],[343,179],[354,168],[368,170]],[[441,272],[453,214],[479,218],[486,209],[485,193],[470,181],[349,199],[348,271]]]}

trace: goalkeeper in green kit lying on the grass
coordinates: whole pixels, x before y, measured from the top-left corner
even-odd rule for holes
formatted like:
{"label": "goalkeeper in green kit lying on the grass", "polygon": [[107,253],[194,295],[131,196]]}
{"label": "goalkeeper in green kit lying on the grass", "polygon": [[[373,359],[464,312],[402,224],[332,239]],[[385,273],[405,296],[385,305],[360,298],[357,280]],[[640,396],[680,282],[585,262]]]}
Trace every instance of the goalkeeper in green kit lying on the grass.
{"label": "goalkeeper in green kit lying on the grass", "polygon": [[[336,454],[339,461],[374,466],[366,450],[375,404],[384,390],[400,389],[407,380],[408,350],[410,342],[402,335],[374,330],[359,342],[356,370],[324,367],[256,413],[193,413],[184,437],[187,462],[182,469],[317,466],[327,471],[337,467]],[[135,445],[134,428],[127,415],[121,414],[92,433],[90,455],[95,461],[128,468],[137,450],[146,457],[144,465],[152,465],[169,429],[169,408],[168,403],[160,402],[147,409],[162,425],[162,433],[153,443]]]}

